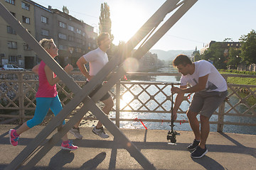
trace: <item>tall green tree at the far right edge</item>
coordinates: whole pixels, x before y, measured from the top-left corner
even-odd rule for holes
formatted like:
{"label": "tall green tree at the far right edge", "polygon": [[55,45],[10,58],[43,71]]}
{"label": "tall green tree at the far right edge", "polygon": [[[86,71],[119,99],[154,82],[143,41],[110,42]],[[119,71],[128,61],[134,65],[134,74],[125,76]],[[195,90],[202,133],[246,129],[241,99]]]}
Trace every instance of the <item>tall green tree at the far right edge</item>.
{"label": "tall green tree at the far right edge", "polygon": [[251,30],[247,35],[242,35],[239,39],[242,42],[241,55],[242,62],[246,64],[256,63],[256,33]]}

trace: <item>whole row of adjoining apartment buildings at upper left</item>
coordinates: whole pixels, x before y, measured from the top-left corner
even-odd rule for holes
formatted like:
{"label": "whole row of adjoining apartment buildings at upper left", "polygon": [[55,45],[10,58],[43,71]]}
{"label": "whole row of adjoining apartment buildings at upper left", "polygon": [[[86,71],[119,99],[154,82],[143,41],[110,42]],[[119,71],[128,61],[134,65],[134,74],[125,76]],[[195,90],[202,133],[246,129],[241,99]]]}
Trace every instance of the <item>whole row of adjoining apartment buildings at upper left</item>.
{"label": "whole row of adjoining apartment buildings at upper left", "polygon": [[[93,27],[58,9],[48,8],[30,0],[0,0],[6,8],[17,16],[18,21],[28,29],[39,42],[43,38],[53,38],[57,45],[61,66],[73,64],[79,57],[97,48],[97,33]],[[15,11],[15,13],[14,13]],[[0,18],[0,64],[17,64],[26,69],[33,68],[40,59],[26,43],[16,35],[3,18]]]}

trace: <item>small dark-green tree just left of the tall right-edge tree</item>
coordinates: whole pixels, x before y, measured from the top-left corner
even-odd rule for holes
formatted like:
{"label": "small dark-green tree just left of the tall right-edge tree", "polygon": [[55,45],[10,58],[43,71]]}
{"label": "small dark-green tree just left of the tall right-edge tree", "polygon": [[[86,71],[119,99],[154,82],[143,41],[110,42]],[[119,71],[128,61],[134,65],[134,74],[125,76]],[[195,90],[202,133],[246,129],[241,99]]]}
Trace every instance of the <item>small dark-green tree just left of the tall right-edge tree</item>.
{"label": "small dark-green tree just left of the tall right-edge tree", "polygon": [[232,65],[235,67],[238,67],[238,64],[241,63],[241,50],[236,49],[234,47],[230,47],[230,49],[228,50],[228,65]]}

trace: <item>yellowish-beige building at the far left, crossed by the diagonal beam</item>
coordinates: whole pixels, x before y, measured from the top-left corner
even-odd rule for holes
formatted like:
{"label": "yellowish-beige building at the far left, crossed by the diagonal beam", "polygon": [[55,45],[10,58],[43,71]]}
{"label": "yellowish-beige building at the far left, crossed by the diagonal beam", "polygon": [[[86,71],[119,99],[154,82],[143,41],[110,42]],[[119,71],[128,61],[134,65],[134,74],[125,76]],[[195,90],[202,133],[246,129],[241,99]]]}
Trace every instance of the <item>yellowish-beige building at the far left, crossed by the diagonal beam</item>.
{"label": "yellowish-beige building at the far left, crossed by the diagonal beam", "polygon": [[[34,6],[26,0],[0,1],[18,21],[21,21],[22,26],[35,37]],[[31,69],[35,62],[35,52],[1,17],[0,23],[0,64],[16,64],[18,67]]]}

